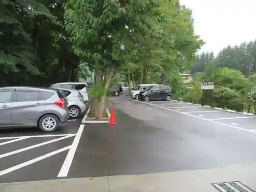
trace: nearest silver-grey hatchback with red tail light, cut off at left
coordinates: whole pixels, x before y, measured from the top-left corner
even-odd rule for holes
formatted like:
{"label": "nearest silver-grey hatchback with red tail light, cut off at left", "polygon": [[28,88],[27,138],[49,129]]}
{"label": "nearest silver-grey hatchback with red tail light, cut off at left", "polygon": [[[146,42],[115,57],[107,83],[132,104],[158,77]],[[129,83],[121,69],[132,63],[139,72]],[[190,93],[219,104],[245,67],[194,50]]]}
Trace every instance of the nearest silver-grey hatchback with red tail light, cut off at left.
{"label": "nearest silver-grey hatchback with red tail light, cut off at left", "polygon": [[0,129],[38,126],[43,132],[53,132],[69,117],[68,102],[57,90],[0,88]]}

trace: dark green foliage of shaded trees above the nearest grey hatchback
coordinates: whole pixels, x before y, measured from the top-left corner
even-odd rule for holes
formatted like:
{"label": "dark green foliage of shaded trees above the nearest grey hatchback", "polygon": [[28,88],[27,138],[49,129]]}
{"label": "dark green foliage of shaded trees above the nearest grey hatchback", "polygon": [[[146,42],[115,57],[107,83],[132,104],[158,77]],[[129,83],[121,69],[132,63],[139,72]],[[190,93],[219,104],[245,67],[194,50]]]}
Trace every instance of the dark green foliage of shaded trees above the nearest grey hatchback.
{"label": "dark green foliage of shaded trees above the nearest grey hatchback", "polygon": [[75,81],[79,58],[57,23],[63,1],[9,1],[0,4],[0,86],[49,86]]}

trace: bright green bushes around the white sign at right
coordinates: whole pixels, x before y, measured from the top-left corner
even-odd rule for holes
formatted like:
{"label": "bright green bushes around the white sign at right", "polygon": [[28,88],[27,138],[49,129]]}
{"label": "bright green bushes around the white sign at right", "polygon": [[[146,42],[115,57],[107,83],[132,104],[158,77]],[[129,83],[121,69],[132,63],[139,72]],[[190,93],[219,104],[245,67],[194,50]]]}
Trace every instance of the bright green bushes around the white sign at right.
{"label": "bright green bushes around the white sign at right", "polygon": [[[247,107],[250,111],[250,105],[254,105],[253,84],[256,82],[256,76],[253,75],[247,79],[242,72],[227,67],[218,68],[213,61],[207,63],[203,72],[198,72],[195,80],[213,81],[215,90],[213,91],[213,104],[220,108],[243,111]],[[210,92],[205,91],[204,97],[210,98]],[[188,91],[184,96],[189,100],[194,97],[193,91]],[[201,95],[202,97],[202,95]],[[205,103],[209,104],[209,103]],[[255,103],[256,104],[256,103]]]}

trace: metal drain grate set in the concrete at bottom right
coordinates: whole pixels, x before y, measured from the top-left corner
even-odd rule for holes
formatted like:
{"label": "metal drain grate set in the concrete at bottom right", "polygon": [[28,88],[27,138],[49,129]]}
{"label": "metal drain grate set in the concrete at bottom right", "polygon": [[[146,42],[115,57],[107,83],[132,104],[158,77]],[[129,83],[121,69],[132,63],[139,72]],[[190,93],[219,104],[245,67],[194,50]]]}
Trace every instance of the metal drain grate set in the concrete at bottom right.
{"label": "metal drain grate set in the concrete at bottom right", "polygon": [[211,185],[221,192],[255,192],[239,181],[211,183]]}

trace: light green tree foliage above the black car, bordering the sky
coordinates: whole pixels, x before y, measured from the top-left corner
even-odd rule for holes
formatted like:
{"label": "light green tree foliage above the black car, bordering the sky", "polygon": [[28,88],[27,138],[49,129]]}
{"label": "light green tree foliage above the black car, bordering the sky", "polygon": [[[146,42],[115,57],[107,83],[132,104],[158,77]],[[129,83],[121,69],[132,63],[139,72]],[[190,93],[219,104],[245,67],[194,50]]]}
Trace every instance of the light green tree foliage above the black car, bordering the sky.
{"label": "light green tree foliage above the black car, bordering the sky", "polygon": [[152,19],[157,38],[143,37],[138,45],[137,58],[140,66],[140,83],[145,83],[146,76],[152,80],[168,81],[170,73],[178,69],[184,71],[193,60],[197,49],[203,45],[199,36],[194,34],[191,10],[180,6],[177,1],[159,1],[159,9],[164,19],[159,22]]}

